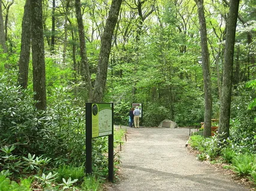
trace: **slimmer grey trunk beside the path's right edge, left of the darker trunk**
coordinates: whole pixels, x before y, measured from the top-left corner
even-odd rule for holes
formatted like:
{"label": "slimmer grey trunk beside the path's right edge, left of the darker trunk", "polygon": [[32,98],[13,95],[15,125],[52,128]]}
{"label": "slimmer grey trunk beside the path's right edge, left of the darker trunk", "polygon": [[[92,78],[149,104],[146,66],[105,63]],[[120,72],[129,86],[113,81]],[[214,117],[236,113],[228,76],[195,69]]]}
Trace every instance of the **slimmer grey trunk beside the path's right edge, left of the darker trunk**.
{"label": "slimmer grey trunk beside the path's right edge, left of the darker trunk", "polygon": [[212,127],[212,93],[210,84],[209,50],[207,47],[206,19],[204,17],[203,0],[195,0],[198,8],[201,36],[201,57],[204,79],[204,137],[210,137]]}

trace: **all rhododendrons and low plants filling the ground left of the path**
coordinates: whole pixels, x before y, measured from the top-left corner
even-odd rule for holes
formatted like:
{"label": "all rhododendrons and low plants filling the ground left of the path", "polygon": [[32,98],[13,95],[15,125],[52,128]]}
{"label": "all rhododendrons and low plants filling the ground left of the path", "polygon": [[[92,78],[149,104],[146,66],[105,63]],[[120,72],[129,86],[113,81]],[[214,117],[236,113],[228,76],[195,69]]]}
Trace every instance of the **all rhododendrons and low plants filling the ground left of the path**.
{"label": "all rhododendrons and low plants filling the ground left of the path", "polygon": [[[100,190],[108,176],[108,140],[94,138],[93,173],[86,177],[85,108],[74,104],[70,88],[51,90],[47,110],[40,111],[32,91],[9,75],[0,81],[0,190]],[[124,133],[115,130],[116,146]]]}

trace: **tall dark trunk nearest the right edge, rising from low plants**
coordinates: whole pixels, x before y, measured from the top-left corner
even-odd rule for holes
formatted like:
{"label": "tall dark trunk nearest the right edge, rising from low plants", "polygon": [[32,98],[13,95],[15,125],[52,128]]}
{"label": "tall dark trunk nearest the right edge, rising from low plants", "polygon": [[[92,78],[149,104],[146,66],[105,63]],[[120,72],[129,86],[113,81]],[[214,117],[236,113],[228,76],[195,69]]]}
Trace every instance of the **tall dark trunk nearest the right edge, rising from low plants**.
{"label": "tall dark trunk nearest the right edge, rising from low plants", "polygon": [[239,10],[239,0],[230,1],[227,20],[227,34],[224,53],[224,69],[221,93],[221,111],[219,116],[219,139],[226,139],[230,133],[231,89],[234,62],[234,42],[236,37],[236,23]]}

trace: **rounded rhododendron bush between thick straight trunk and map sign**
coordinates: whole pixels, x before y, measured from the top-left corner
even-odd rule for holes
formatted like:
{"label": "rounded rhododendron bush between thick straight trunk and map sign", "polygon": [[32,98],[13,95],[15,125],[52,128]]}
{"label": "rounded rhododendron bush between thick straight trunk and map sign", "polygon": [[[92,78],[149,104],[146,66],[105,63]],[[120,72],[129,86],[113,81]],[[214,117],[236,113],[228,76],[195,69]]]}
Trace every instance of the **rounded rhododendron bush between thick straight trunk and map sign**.
{"label": "rounded rhododendron bush between thick straight trunk and map sign", "polygon": [[44,154],[52,164],[80,166],[85,161],[85,108],[76,106],[70,88],[52,90],[51,101],[42,119]]}

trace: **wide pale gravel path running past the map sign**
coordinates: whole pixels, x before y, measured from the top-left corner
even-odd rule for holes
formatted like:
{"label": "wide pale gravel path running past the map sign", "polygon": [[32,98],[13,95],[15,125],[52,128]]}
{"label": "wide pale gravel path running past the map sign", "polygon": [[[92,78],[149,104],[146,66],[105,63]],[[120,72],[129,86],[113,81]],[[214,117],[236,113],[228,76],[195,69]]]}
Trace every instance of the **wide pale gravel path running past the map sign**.
{"label": "wide pale gravel path running past the map sign", "polygon": [[220,165],[197,161],[185,147],[189,128],[122,128],[127,141],[120,153],[120,180],[106,190],[254,190]]}

